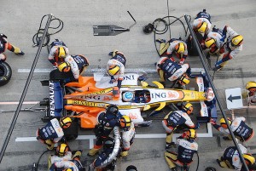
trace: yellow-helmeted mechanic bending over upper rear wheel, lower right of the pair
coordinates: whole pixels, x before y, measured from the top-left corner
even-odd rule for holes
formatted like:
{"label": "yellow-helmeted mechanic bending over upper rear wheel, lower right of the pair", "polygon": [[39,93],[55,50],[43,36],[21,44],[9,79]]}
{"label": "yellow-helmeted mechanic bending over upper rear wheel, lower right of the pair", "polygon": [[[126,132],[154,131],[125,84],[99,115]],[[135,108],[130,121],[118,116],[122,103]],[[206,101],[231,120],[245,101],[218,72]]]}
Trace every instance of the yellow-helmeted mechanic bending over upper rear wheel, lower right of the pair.
{"label": "yellow-helmeted mechanic bending over upper rear wheel, lower right of the pair", "polygon": [[67,55],[65,62],[62,62],[58,67],[59,71],[66,72],[70,81],[76,81],[89,66],[89,60],[82,54]]}

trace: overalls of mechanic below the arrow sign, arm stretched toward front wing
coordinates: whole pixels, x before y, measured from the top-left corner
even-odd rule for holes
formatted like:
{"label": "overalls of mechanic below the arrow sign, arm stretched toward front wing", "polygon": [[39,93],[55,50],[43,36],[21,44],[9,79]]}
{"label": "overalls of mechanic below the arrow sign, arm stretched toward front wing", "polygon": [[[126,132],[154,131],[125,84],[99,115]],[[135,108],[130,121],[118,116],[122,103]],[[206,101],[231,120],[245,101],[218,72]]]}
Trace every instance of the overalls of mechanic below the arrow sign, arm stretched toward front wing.
{"label": "overalls of mechanic below the arrow sign, arm stretched toward front wing", "polygon": [[[232,140],[230,131],[228,128],[223,128],[218,124],[213,124],[213,127],[224,134],[229,134],[228,138]],[[253,138],[253,135],[254,135],[253,128],[249,127],[245,123],[245,117],[236,117],[230,124],[230,128],[232,132],[235,134],[236,138],[241,142],[247,141]]]}

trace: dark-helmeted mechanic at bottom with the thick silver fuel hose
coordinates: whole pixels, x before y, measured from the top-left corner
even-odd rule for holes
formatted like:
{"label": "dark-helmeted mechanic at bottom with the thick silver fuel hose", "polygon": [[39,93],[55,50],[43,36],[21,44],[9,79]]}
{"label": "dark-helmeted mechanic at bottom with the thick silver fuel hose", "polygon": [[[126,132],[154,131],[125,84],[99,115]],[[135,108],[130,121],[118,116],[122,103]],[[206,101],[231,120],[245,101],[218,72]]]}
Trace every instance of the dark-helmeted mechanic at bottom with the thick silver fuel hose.
{"label": "dark-helmeted mechanic at bottom with the thick silver fuel hose", "polygon": [[103,145],[103,151],[89,166],[89,170],[96,168],[98,171],[114,170],[116,159],[121,151],[119,127],[113,128],[114,138],[108,137]]}

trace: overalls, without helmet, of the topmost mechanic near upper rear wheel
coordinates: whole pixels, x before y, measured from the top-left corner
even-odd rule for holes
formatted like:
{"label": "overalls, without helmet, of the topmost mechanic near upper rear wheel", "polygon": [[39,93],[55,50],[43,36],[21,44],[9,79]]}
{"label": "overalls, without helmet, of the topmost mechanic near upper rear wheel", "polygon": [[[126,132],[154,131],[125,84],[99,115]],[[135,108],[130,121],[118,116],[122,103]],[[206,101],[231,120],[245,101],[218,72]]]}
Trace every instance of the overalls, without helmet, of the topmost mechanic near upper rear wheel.
{"label": "overalls, without helmet, of the topmost mechanic near upper rear wheel", "polygon": [[48,56],[49,62],[54,66],[58,66],[61,62],[64,61],[64,58],[59,58],[58,54],[56,54],[56,51],[59,47],[64,48],[66,55],[69,54],[66,44],[56,39],[53,43],[50,44],[50,51]]}

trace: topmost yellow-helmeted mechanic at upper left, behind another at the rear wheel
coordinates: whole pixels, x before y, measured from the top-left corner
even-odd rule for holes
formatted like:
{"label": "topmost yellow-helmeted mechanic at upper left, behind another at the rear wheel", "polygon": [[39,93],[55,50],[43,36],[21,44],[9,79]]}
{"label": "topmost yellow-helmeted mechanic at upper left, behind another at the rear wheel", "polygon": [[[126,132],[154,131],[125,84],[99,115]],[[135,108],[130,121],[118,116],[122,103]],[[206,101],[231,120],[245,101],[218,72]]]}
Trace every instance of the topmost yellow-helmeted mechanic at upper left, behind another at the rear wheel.
{"label": "topmost yellow-helmeted mechanic at upper left, behind another at the rear wheel", "polygon": [[55,39],[55,41],[50,44],[48,60],[52,65],[59,66],[61,62],[64,62],[68,54],[69,51],[66,44],[59,39]]}

